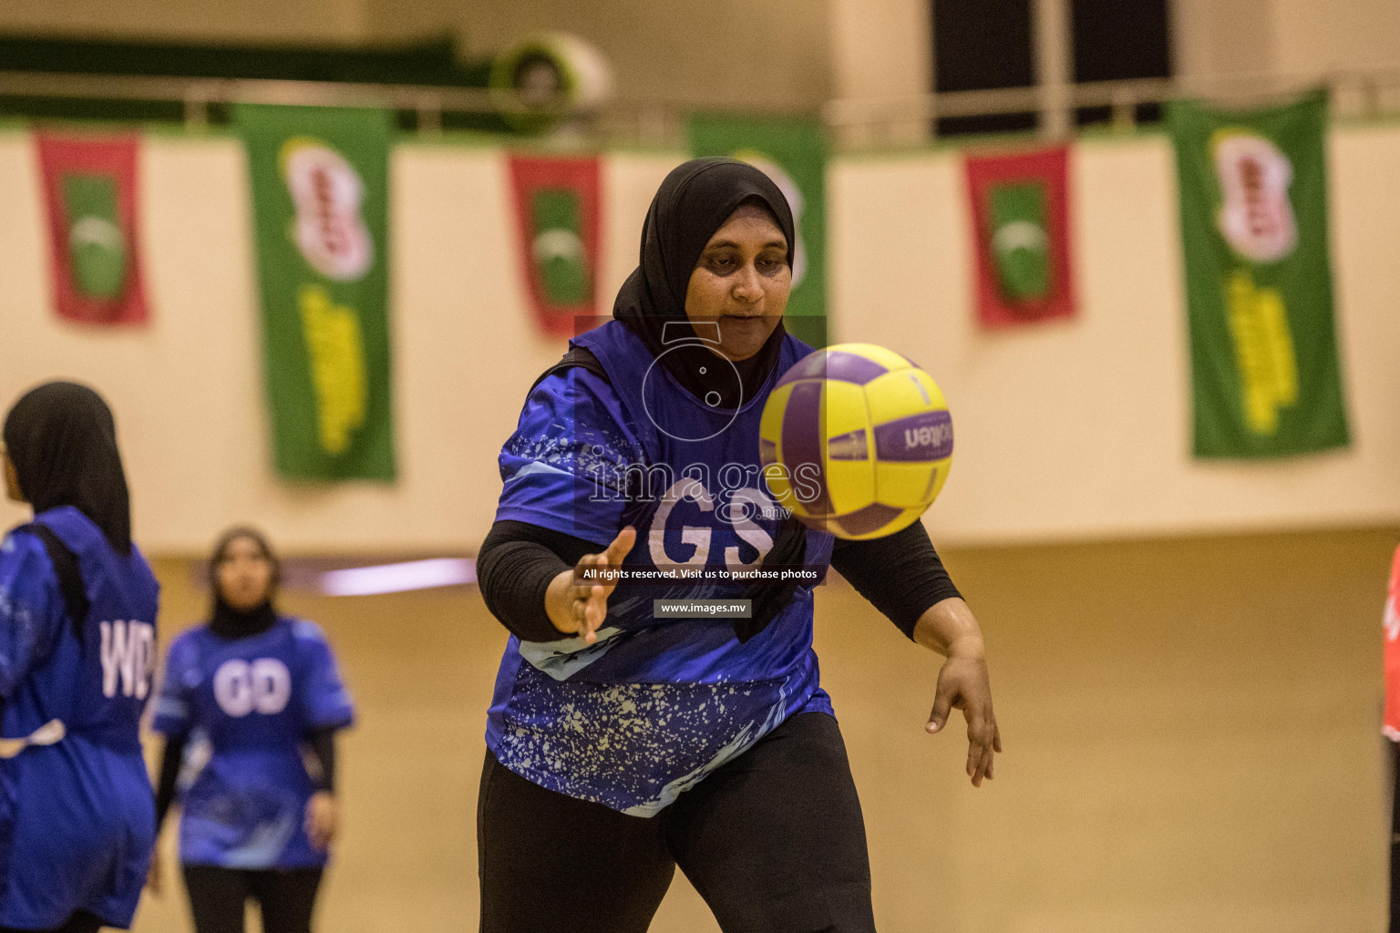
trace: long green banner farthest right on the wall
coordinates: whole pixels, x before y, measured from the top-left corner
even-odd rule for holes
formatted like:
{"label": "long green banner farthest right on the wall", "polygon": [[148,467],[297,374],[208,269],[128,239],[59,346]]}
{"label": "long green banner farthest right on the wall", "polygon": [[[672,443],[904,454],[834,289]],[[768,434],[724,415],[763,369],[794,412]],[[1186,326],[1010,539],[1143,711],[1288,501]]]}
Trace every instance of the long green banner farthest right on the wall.
{"label": "long green banner farthest right on the wall", "polygon": [[1327,101],[1168,108],[1191,333],[1196,456],[1348,443],[1327,248]]}

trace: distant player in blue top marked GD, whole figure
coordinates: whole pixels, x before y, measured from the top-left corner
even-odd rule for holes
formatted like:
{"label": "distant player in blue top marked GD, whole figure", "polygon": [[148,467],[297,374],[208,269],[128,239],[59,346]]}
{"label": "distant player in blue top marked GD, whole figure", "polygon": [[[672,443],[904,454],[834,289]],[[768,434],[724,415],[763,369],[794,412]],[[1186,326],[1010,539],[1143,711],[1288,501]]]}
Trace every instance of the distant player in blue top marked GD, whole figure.
{"label": "distant player in blue top marked GD, whole figure", "polygon": [[197,933],[242,933],[249,898],[265,933],[308,933],[335,835],[335,733],[354,711],[325,635],[276,613],[276,585],[266,539],[227,532],[210,560],[211,618],[165,660],[157,814],[164,822],[182,764],[203,760],[179,824]]}

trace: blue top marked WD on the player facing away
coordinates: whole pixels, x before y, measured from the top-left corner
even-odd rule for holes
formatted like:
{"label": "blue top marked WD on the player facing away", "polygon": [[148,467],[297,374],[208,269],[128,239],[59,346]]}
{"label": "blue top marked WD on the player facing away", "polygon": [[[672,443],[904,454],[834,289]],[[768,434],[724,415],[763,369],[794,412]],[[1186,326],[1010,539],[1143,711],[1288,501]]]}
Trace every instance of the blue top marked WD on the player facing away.
{"label": "blue top marked WD on the player facing away", "polygon": [[155,836],[140,719],[160,587],[136,547],[118,553],[77,509],[35,523],[77,558],[88,613],[69,617],[38,536],[0,543],[0,734],[64,733],[0,761],[0,927],[53,929],[74,911],[126,926]]}

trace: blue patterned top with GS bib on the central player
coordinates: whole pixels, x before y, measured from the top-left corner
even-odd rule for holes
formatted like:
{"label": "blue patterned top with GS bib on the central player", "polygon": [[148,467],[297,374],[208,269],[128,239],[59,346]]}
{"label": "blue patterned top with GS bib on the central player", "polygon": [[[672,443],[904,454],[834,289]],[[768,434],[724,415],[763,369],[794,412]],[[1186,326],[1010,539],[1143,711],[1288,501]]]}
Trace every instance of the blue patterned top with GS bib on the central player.
{"label": "blue patterned top with GS bib on the central player", "polygon": [[[762,480],[759,418],[778,375],[811,348],[787,337],[764,389],[725,410],[682,387],[620,323],[574,343],[608,378],[574,368],[535,387],[501,450],[496,518],[599,546],[631,525],[624,568],[654,582],[613,592],[595,645],[512,636],[487,744],[535,783],[652,816],[787,716],[830,712],[811,586],[748,642],[728,620],[654,613],[658,599],[741,596],[734,575],[771,550],[785,513]],[[808,565],[825,568],[830,553],[829,534],[808,532]]]}

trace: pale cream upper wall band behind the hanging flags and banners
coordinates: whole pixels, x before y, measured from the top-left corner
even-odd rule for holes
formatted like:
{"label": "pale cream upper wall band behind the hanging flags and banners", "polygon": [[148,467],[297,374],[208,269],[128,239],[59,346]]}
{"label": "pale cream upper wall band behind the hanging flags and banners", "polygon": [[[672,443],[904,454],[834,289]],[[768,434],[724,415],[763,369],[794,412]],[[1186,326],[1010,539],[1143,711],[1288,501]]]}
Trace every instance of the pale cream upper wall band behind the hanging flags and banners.
{"label": "pale cream upper wall band behind the hanging flags and banners", "polygon": [[[645,204],[679,155],[605,161],[603,295],[636,262]],[[1161,137],[1074,150],[1078,319],[972,325],[956,155],[832,169],[839,337],[918,359],[951,399],[958,453],[928,522],[945,543],[1348,526],[1400,519],[1400,127],[1331,137],[1333,242],[1350,450],[1274,463],[1190,457],[1190,386],[1170,152]],[[392,308],[402,478],[274,480],[244,161],[228,138],[151,138],[143,186],[153,325],[95,333],[49,312],[29,141],[0,136],[0,399],[55,375],[113,400],[139,540],[202,550],[252,519],[298,551],[462,550],[490,525],[496,455],[561,341],[535,336],[503,154],[405,144],[393,157]],[[601,304],[606,312],[608,302]],[[21,518],[0,506],[0,520]]]}

